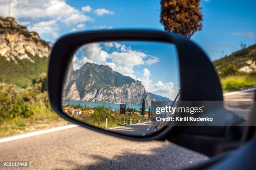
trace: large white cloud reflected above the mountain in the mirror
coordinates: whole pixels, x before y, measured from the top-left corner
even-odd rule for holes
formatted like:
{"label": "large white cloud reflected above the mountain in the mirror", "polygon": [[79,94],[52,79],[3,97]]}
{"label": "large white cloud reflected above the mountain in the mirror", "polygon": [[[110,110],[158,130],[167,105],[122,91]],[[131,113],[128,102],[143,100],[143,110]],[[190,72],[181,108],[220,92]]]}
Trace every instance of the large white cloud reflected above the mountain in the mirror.
{"label": "large white cloud reflected above the mountain in the mirror", "polygon": [[[113,48],[114,51],[108,53],[102,50],[103,46],[107,50]],[[101,45],[99,43],[87,44],[81,47],[81,51],[82,59],[75,63],[75,69],[81,67],[85,62],[105,64],[110,66],[114,71],[134,79],[136,79],[136,76],[134,75],[133,67],[139,65],[151,65],[159,61],[158,57],[132,50],[131,47],[127,47],[118,42],[105,42]],[[107,59],[110,62],[107,62]]]}

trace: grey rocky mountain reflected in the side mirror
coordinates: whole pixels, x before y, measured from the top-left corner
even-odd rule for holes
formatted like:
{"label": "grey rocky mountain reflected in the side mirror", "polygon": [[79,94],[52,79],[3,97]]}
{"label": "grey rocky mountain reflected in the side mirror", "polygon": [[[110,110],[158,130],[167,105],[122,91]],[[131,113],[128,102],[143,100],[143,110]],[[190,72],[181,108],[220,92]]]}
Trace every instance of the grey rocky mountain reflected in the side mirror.
{"label": "grey rocky mountain reflected in the side mirror", "polygon": [[67,72],[64,100],[140,105],[143,98],[146,105],[150,105],[151,100],[171,101],[147,92],[141,81],[115,72],[107,65],[87,62],[78,70],[70,67]]}

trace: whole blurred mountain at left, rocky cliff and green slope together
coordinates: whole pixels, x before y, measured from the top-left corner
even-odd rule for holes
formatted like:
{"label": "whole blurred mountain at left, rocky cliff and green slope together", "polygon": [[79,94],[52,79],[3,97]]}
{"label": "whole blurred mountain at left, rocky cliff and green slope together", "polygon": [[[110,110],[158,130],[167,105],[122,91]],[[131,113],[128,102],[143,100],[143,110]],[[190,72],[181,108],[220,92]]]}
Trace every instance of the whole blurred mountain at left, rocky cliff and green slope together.
{"label": "whole blurred mountain at left, rocky cliff and green slope together", "polygon": [[0,16],[0,81],[22,87],[46,72],[49,44],[14,18]]}

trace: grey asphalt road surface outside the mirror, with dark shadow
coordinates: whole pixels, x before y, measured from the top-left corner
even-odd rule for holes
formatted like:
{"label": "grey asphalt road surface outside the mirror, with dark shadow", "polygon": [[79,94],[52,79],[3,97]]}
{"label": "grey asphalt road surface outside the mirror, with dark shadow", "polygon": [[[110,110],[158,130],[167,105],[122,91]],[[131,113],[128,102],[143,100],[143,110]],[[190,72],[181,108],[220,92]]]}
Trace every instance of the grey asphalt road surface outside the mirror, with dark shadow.
{"label": "grey asphalt road surface outside the mirror, with dark shadow", "polygon": [[0,143],[0,161],[28,160],[23,170],[172,170],[208,159],[167,141],[134,142],[80,127]]}

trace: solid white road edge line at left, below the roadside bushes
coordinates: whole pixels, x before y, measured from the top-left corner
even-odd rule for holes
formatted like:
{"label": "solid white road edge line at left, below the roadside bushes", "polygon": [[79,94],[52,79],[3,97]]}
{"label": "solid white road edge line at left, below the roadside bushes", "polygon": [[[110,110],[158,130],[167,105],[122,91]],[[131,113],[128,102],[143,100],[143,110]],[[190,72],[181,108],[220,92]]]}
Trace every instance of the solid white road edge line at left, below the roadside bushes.
{"label": "solid white road edge line at left, below the roadside bushes", "polygon": [[50,133],[50,132],[55,132],[55,131],[59,131],[59,130],[74,128],[74,127],[77,127],[77,126],[78,125],[74,125],[74,124],[65,125],[65,126],[60,126],[60,127],[57,127],[57,128],[51,128],[51,129],[40,130],[40,131],[32,132],[32,133],[26,133],[26,134],[23,134],[23,135],[12,136],[12,137],[8,137],[8,138],[0,139],[0,143],[8,142],[8,141],[11,141],[11,140],[22,139],[22,138],[28,138],[28,137],[36,136],[36,135],[42,135],[44,133]]}

